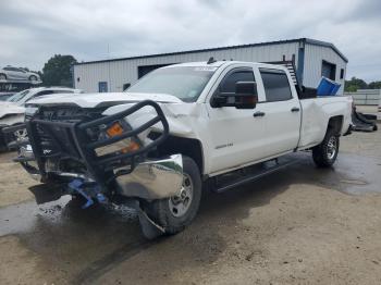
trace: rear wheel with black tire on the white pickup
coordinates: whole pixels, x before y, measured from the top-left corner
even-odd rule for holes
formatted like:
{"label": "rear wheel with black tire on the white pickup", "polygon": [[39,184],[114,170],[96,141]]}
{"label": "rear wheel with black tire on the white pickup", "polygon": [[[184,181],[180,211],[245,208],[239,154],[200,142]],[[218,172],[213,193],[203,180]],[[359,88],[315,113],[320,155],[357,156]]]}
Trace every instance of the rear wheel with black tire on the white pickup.
{"label": "rear wheel with black tire on the white pickup", "polygon": [[312,149],[312,159],[319,168],[330,168],[336,161],[340,138],[334,129],[329,128],[323,141]]}

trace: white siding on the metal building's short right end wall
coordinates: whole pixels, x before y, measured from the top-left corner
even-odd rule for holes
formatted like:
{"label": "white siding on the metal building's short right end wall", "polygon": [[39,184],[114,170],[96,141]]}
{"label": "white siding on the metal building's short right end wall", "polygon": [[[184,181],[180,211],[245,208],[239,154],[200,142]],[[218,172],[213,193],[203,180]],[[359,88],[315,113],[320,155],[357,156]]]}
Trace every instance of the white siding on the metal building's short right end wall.
{"label": "white siding on the metal building's short right end wall", "polygon": [[[336,64],[335,80],[342,84],[339,94],[343,94],[346,75],[346,62],[333,49],[329,47],[320,47],[306,44],[303,85],[312,88],[318,87],[321,78],[321,64],[323,60]],[[343,79],[340,79],[341,69],[344,69]]]}

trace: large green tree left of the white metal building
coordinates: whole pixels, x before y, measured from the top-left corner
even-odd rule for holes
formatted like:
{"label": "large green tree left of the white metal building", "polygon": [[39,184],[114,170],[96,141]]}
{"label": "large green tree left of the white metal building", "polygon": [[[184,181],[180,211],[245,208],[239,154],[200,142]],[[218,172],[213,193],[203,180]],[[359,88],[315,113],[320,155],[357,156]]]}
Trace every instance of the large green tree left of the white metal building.
{"label": "large green tree left of the white metal building", "polygon": [[73,87],[71,66],[76,62],[73,55],[54,54],[44,65],[44,85]]}

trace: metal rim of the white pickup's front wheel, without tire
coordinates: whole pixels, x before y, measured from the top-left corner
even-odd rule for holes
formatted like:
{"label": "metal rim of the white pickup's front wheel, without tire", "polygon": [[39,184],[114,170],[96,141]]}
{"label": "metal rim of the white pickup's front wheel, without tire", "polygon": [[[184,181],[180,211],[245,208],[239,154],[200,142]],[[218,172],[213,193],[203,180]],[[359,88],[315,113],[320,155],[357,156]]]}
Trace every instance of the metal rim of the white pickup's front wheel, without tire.
{"label": "metal rim of the white pickup's front wheel, without tire", "polygon": [[188,174],[183,174],[183,185],[179,196],[169,199],[170,211],[180,218],[187,213],[193,200],[193,182]]}

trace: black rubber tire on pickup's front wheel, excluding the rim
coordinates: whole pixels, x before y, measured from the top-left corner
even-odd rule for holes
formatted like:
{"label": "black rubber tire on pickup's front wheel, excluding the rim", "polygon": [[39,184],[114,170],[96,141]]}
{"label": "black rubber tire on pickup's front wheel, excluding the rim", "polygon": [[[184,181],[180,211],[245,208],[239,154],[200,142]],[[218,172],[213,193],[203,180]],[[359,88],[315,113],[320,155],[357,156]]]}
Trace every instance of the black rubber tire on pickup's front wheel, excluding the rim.
{"label": "black rubber tire on pickup's front wheel, excluding the rim", "polygon": [[183,215],[175,216],[174,209],[171,209],[174,198],[155,200],[152,202],[143,203],[147,214],[165,231],[165,234],[173,235],[182,232],[185,226],[189,225],[195,219],[201,200],[202,184],[200,172],[196,162],[183,157],[184,186],[189,179],[193,186],[192,200]]}

